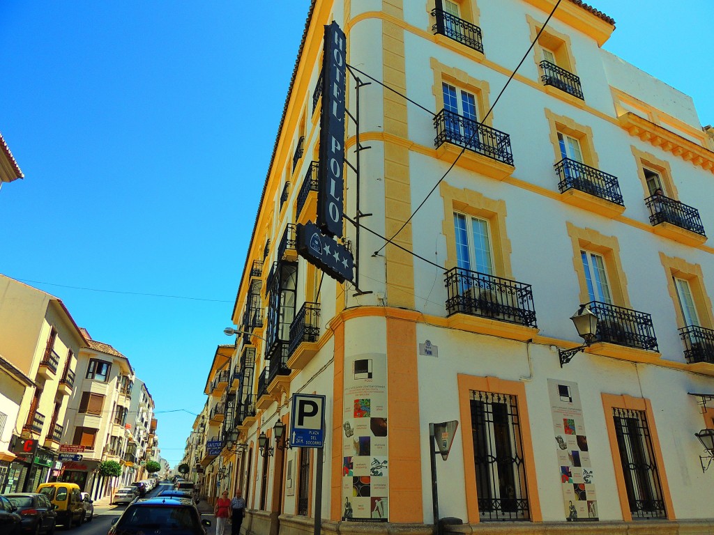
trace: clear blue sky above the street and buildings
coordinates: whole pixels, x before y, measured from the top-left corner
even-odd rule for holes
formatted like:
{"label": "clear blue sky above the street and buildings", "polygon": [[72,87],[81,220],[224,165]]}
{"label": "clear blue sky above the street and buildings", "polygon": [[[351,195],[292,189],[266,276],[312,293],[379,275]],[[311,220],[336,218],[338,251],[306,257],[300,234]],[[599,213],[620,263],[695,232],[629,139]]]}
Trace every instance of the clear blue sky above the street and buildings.
{"label": "clear blue sky above the street and buildings", "polygon": [[[0,272],[61,297],[129,357],[171,464],[216,345],[233,340],[222,331],[308,4],[0,3],[0,131],[26,175],[0,191]],[[713,2],[592,4],[617,21],[605,49],[714,123]]]}

